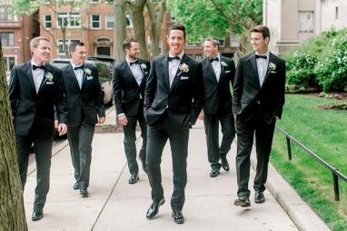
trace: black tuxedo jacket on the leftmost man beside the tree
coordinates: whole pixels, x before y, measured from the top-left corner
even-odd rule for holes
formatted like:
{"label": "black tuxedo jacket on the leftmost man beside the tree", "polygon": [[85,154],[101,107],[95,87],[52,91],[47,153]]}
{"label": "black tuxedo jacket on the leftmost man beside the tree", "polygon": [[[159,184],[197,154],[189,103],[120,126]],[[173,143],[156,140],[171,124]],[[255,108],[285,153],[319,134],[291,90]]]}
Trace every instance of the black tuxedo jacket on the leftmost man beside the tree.
{"label": "black tuxedo jacket on the leftmost man beside the tree", "polygon": [[[49,75],[53,76],[52,80]],[[31,62],[15,65],[11,71],[9,97],[16,135],[26,136],[35,126],[35,133],[39,136],[53,136],[54,105],[59,123],[66,122],[62,72],[48,63],[45,63],[44,78],[37,94]]]}

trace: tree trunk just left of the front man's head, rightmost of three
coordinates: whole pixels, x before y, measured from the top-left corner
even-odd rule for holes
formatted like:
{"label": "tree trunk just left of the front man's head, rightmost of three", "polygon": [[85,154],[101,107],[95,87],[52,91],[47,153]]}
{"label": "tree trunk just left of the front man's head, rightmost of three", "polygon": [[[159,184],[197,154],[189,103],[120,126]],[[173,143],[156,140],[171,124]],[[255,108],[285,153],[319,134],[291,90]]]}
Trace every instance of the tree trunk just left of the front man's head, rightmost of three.
{"label": "tree trunk just left of the front man's head, rightmost of three", "polygon": [[164,13],[166,10],[166,0],[163,0],[159,3],[151,3],[151,1],[147,1],[147,10],[150,17],[150,34],[151,34],[151,45],[150,51],[151,56],[157,56],[160,51],[160,34],[162,31],[162,24]]}

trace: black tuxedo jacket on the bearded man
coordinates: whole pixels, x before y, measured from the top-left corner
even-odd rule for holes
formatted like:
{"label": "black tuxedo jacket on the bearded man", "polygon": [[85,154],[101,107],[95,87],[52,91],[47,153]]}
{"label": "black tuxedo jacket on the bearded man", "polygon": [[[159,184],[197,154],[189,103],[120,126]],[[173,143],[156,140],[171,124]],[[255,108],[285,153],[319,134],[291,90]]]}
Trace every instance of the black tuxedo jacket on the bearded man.
{"label": "black tuxedo jacket on the bearded man", "polygon": [[139,110],[144,111],[144,88],[150,72],[150,63],[144,59],[138,59],[138,61],[144,74],[140,86],[125,60],[114,66],[114,104],[117,115],[124,113],[125,116],[136,116]]}

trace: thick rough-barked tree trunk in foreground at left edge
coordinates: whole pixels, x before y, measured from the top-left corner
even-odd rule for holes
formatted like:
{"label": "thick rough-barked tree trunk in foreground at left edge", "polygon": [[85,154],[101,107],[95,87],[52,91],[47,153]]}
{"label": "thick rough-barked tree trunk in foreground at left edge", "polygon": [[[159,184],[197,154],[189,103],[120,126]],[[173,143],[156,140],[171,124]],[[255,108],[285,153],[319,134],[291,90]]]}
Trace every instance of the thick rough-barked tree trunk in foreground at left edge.
{"label": "thick rough-barked tree trunk in foreground at left edge", "polygon": [[23,190],[15,153],[15,129],[7,94],[0,41],[0,230],[27,230]]}

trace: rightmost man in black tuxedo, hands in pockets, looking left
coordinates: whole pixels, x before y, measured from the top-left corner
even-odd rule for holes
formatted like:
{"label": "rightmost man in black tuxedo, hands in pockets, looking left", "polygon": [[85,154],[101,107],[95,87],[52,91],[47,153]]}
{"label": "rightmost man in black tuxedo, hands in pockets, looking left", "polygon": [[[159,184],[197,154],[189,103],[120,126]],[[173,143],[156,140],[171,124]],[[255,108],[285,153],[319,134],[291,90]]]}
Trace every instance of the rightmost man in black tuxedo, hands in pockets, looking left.
{"label": "rightmost man in black tuxedo, hands in pockets, looking left", "polygon": [[269,28],[264,25],[255,26],[251,31],[254,53],[240,59],[233,83],[238,184],[235,206],[251,206],[248,181],[254,132],[258,160],[253,184],[254,202],[265,202],[263,191],[273,143],[273,130],[276,120],[280,120],[282,116],[285,89],[285,62],[269,52],[269,42]]}

